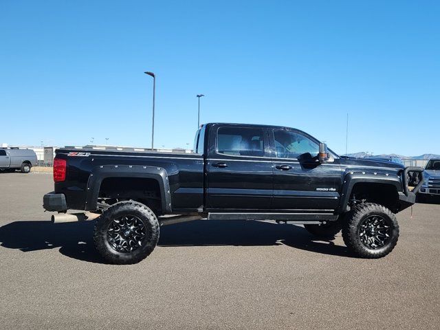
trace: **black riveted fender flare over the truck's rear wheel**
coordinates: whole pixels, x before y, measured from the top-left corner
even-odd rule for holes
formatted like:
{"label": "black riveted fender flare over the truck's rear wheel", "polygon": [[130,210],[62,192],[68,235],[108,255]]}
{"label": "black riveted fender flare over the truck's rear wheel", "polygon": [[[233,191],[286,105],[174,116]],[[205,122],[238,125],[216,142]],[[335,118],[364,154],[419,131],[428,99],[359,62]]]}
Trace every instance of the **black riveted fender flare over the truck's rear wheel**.
{"label": "black riveted fender flare over the truck's rear wheel", "polygon": [[162,210],[171,212],[171,194],[168,174],[162,167],[141,165],[101,165],[95,166],[87,181],[85,210],[96,210],[101,183],[109,177],[138,177],[155,179],[159,184]]}

